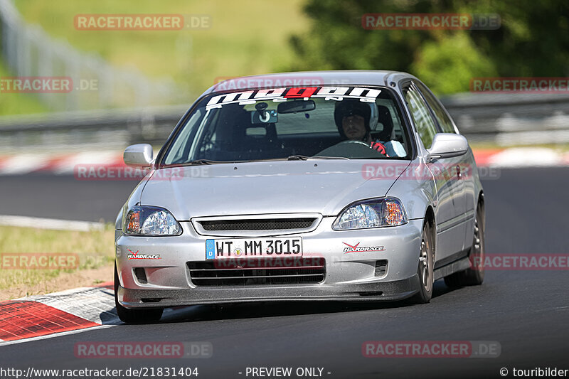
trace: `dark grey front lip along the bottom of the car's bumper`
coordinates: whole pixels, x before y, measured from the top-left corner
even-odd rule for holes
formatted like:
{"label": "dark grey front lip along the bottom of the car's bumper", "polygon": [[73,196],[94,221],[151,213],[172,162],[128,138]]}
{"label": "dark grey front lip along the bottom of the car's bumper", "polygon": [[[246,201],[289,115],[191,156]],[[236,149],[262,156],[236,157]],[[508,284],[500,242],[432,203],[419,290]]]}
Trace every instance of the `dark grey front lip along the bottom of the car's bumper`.
{"label": "dark grey front lip along the bottom of the car's bumper", "polygon": [[126,289],[119,286],[117,295],[122,306],[134,309],[257,301],[397,301],[412,297],[419,287],[419,277],[415,274],[407,279],[365,284],[188,289]]}

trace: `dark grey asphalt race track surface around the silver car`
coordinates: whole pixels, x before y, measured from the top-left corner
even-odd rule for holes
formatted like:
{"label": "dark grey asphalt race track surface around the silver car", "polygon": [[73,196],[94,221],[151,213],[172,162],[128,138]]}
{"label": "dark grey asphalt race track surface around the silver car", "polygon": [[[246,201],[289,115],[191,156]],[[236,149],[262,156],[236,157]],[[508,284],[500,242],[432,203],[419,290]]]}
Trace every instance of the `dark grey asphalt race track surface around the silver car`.
{"label": "dark grey asphalt race track surface around the silver car", "polygon": [[[134,186],[102,182],[95,191],[93,183],[54,176],[0,181],[0,213],[78,220],[114,218]],[[568,188],[567,168],[502,170],[499,179],[484,181],[486,252],[569,254]],[[41,206],[44,201],[50,204]],[[506,269],[487,271],[479,287],[451,290],[437,281],[425,305],[194,306],[151,326],[110,326],[1,346],[0,367],[198,367],[199,379],[252,378],[245,376],[247,367],[320,367],[323,378],[503,378],[499,370],[507,368],[511,378],[513,368],[569,369],[568,288],[567,270]],[[75,358],[75,343],[85,341],[209,341],[213,358]],[[364,358],[365,341],[497,341],[501,354]]]}

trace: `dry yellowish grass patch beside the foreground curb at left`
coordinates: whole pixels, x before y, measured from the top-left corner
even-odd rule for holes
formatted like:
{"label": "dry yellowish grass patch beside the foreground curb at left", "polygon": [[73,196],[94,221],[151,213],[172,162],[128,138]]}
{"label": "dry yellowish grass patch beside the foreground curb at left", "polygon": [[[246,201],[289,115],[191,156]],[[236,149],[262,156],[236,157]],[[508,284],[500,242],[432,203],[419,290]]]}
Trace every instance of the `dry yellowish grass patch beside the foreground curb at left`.
{"label": "dry yellowish grass patch beside the foreground curb at left", "polygon": [[[42,230],[35,228],[0,228],[0,255],[22,253],[75,253],[79,258],[78,269],[0,269],[1,290],[12,287],[41,287],[64,274],[109,266],[114,259],[114,234],[112,225],[105,230],[75,232]],[[3,262],[4,265],[5,262]],[[75,286],[77,287],[77,286]],[[50,288],[59,290],[60,288]],[[23,294],[29,293],[26,291]]]}

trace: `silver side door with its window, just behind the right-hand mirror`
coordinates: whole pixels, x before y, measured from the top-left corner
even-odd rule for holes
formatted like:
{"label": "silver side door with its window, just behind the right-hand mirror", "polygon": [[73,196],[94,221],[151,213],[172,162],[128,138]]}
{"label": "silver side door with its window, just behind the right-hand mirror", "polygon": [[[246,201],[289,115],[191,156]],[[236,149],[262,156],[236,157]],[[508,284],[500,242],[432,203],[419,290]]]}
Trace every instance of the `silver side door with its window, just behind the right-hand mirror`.
{"label": "silver side door with its window, just behind the right-hand mirror", "polygon": [[[410,83],[403,90],[405,102],[415,123],[415,129],[425,149],[430,149],[432,139],[440,132],[438,124],[430,108],[423,99],[418,88]],[[437,159],[427,166],[435,175],[437,187],[437,206],[435,219],[437,221],[437,247],[435,267],[445,265],[462,252],[464,245],[464,228],[457,223],[462,215],[459,201],[460,189],[456,174],[449,168],[457,164],[454,158]]]}

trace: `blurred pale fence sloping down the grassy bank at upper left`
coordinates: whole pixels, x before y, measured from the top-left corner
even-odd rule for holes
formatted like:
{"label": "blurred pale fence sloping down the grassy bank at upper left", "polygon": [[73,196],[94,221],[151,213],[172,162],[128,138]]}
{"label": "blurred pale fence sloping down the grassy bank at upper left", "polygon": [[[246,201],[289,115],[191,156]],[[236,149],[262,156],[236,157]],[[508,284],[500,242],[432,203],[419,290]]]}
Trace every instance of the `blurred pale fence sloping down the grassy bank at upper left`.
{"label": "blurred pale fence sloping down the grassy bank at upper left", "polygon": [[[187,95],[172,78],[150,79],[136,68],[116,68],[97,54],[52,38],[40,26],[26,23],[12,0],[0,0],[0,55],[14,77],[70,80],[65,93],[35,94],[50,110],[175,104]],[[85,82],[89,85],[82,89]]]}

